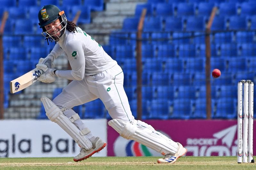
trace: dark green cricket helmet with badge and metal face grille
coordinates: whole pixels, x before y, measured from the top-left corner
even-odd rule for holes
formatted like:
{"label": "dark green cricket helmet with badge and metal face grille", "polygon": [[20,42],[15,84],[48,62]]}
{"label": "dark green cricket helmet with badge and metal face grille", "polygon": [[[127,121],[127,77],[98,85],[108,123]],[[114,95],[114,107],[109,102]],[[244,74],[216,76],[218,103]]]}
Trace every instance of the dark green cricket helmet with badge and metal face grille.
{"label": "dark green cricket helmet with badge and metal face grille", "polygon": [[[44,5],[38,12],[38,19],[39,19],[38,24],[39,24],[40,28],[43,29],[42,34],[46,38],[51,37],[53,40],[58,41],[60,39],[61,35],[63,35],[66,31],[67,17],[64,14],[64,11],[60,11],[60,9],[55,5]],[[56,35],[58,38],[54,38],[54,37],[52,37],[52,35],[50,35],[48,33],[48,31],[50,31],[50,30],[46,31],[44,26],[51,24],[53,21],[55,21],[57,19],[60,19],[60,24],[61,24],[62,28],[60,30],[61,31],[60,36]]]}

